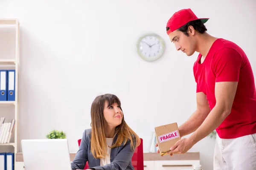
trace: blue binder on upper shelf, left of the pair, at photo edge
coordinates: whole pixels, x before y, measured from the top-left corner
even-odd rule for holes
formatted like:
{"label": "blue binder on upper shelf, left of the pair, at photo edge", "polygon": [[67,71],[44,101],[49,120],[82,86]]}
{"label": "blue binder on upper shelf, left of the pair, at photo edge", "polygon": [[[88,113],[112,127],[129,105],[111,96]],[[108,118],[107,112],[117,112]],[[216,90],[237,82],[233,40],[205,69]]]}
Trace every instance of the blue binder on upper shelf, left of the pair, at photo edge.
{"label": "blue binder on upper shelf, left of the pair, at photo edge", "polygon": [[7,70],[0,70],[0,101],[7,100]]}

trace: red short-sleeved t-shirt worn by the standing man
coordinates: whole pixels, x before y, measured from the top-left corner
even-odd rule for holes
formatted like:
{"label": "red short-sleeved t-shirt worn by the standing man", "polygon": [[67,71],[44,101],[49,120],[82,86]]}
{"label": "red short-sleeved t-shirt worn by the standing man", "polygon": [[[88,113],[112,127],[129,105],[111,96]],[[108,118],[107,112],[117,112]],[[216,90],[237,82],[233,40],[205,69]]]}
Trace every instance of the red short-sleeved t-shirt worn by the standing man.
{"label": "red short-sleeved t-shirt worn by the standing man", "polygon": [[222,139],[256,133],[256,90],[253,71],[244,51],[235,43],[217,39],[204,62],[201,54],[194,64],[196,92],[207,96],[210,109],[216,104],[215,82],[238,82],[231,113],[218,126]]}

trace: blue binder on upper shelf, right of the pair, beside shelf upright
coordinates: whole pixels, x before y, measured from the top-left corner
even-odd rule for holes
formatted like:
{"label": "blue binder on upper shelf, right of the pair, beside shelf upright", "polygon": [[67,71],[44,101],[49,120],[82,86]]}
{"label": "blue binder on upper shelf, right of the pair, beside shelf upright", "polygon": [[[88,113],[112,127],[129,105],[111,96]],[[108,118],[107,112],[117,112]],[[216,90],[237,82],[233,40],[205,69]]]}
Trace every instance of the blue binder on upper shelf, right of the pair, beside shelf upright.
{"label": "blue binder on upper shelf, right of the pair, beside shelf upright", "polygon": [[15,101],[15,70],[8,70],[7,100]]}

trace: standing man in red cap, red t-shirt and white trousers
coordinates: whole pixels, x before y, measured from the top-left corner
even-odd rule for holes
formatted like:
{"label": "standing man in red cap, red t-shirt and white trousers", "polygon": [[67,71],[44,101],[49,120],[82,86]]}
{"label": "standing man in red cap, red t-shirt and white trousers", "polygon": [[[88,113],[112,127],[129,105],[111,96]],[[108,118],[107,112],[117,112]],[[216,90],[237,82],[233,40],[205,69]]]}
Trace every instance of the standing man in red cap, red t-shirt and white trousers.
{"label": "standing man in red cap, red t-shirt and white trousers", "polygon": [[177,50],[187,56],[199,53],[193,67],[197,109],[179,127],[180,136],[192,135],[180,139],[168,153],[186,153],[216,129],[214,169],[256,170],[253,71],[238,45],[206,32],[204,23],[208,19],[196,17],[191,9],[182,9],[166,26]]}

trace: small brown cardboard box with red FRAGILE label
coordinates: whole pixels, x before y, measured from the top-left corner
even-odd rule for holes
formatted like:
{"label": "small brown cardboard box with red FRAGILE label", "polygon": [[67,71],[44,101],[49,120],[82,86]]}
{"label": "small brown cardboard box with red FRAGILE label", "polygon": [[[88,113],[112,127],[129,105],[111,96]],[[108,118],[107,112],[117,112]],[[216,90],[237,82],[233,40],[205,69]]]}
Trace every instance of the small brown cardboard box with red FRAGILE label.
{"label": "small brown cardboard box with red FRAGILE label", "polygon": [[166,152],[170,150],[172,145],[180,140],[180,132],[177,123],[155,127],[155,134],[161,156],[168,155]]}

